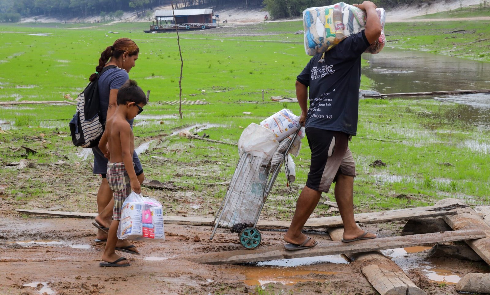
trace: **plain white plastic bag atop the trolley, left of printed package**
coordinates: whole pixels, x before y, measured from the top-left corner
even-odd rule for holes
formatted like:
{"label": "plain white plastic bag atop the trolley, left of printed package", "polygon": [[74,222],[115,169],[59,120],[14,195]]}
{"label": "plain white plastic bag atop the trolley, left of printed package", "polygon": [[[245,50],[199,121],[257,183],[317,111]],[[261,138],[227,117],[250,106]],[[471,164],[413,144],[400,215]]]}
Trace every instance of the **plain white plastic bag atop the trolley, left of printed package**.
{"label": "plain white plastic bag atop the trolley, left of printed package", "polygon": [[279,142],[274,132],[256,123],[248,125],[238,141],[240,157],[251,153],[253,156],[270,160],[277,146]]}

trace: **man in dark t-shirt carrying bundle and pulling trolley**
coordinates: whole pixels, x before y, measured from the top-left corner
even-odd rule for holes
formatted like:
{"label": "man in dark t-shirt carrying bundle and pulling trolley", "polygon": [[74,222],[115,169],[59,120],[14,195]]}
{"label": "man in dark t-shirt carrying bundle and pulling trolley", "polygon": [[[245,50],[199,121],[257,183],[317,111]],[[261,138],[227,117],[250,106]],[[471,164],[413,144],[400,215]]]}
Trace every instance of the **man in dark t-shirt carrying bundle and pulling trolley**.
{"label": "man in dark t-shirt carrying bundle and pulling trolley", "polygon": [[[296,203],[291,226],[284,236],[288,250],[316,246],[318,242],[301,232],[319,202],[322,192],[335,185],[344,232],[343,242],[374,239],[354,220],[353,187],[356,176],[354,158],[348,146],[356,135],[361,84],[361,54],[381,35],[376,5],[364,1],[354,6],[366,11],[366,29],[343,39],[336,47],[311,58],[297,76],[296,96],[301,107],[299,122],[305,126],[311,148],[308,180]],[[308,87],[310,107],[307,108]]]}

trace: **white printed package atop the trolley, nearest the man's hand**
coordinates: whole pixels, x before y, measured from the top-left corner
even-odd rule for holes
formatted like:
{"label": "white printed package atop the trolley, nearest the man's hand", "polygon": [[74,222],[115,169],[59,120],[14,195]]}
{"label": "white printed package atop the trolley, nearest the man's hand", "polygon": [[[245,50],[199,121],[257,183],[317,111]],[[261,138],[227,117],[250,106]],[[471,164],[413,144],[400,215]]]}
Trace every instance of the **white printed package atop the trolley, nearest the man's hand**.
{"label": "white printed package atop the trolley, nearest the man's hand", "polygon": [[[282,141],[286,137],[294,134],[299,125],[299,117],[294,115],[288,109],[282,109],[274,115],[270,116],[266,120],[260,123],[261,126],[264,126],[274,132],[277,141]],[[300,134],[298,134],[300,136]],[[304,137],[304,132],[301,135],[300,139]]]}

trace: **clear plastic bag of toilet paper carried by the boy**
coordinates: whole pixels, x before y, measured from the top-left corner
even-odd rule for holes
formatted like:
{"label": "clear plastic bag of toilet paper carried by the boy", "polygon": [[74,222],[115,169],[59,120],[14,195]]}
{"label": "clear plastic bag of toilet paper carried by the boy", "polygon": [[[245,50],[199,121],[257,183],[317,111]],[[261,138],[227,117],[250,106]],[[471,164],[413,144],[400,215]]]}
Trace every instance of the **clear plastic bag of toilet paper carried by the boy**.
{"label": "clear plastic bag of toilet paper carried by the boy", "polygon": [[120,240],[165,241],[162,204],[131,192],[123,203],[117,235]]}

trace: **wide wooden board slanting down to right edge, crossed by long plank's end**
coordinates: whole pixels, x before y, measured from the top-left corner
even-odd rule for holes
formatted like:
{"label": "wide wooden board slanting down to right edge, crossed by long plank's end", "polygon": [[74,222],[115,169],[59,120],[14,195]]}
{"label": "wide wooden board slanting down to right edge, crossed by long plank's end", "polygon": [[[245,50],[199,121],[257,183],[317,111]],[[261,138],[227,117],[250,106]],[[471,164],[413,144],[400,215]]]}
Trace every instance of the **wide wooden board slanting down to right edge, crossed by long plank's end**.
{"label": "wide wooden board slanting down to right edge, crossed by long plank's end", "polygon": [[[459,199],[447,198],[440,200],[436,203],[436,206],[443,206],[446,204],[458,203],[465,206],[466,204]],[[470,207],[455,208],[451,211],[456,212],[456,215],[443,216],[442,219],[446,221],[453,230],[459,229],[480,229],[483,230],[487,237],[478,240],[465,241],[480,257],[490,264],[490,225],[487,224],[483,218],[476,213],[475,210]]]}

